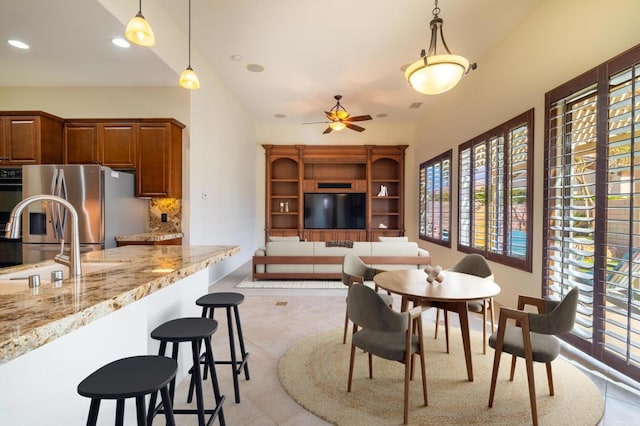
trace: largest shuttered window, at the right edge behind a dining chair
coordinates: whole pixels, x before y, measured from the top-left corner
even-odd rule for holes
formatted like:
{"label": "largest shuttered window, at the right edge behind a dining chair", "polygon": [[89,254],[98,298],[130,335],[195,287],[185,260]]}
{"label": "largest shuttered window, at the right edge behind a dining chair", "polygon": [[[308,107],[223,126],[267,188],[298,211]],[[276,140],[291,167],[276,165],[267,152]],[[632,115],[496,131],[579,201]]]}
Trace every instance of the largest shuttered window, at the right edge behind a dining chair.
{"label": "largest shuttered window, at the right edge behind a dining chair", "polygon": [[566,339],[640,379],[640,46],[547,93],[543,292]]}

